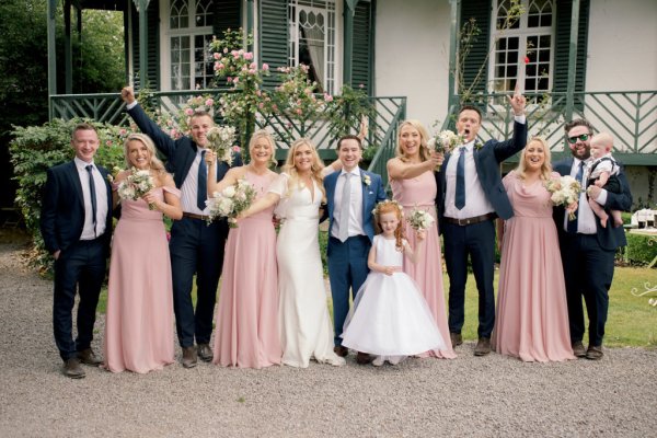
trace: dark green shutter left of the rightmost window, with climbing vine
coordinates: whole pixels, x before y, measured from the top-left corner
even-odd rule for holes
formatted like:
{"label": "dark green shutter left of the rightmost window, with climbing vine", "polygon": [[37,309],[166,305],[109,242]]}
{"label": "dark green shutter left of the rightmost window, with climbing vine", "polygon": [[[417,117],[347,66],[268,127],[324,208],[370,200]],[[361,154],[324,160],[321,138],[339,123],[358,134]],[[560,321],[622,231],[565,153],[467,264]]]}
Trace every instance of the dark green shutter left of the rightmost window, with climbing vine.
{"label": "dark green shutter left of the rightmost window, with climbing vine", "polygon": [[487,55],[491,41],[491,1],[463,0],[461,3],[460,28],[462,28],[463,24],[470,19],[475,20],[481,32],[476,36],[476,41],[472,45],[470,54],[463,65],[463,87],[460,87],[460,89],[463,90],[470,88],[483,66],[484,70],[480,74],[476,85],[472,89],[472,93],[485,93],[488,81]]}

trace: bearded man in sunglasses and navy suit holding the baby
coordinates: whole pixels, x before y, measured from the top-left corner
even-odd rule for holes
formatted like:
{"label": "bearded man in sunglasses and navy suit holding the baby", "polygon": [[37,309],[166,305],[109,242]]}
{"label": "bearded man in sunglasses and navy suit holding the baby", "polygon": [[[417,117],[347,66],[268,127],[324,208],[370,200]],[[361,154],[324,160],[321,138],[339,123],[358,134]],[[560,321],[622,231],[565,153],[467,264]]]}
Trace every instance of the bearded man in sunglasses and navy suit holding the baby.
{"label": "bearded man in sunglasses and navy suit holding the baby", "polygon": [[[554,171],[586,182],[593,127],[585,119],[576,119],[565,125],[565,132],[573,158],[554,163]],[[607,212],[629,211],[632,207],[632,194],[622,165],[618,178],[620,194],[590,186],[589,196]],[[570,343],[575,356],[599,360],[603,355],[602,337],[609,308],[609,288],[613,280],[614,255],[616,249],[627,242],[623,227],[614,228],[611,222],[606,228],[600,226],[600,219],[592,212],[585,192],[579,196],[579,207],[575,214],[573,221],[567,220],[563,207],[555,208],[554,214],[566,280]],[[588,349],[581,343],[585,332],[583,296],[589,319]]]}

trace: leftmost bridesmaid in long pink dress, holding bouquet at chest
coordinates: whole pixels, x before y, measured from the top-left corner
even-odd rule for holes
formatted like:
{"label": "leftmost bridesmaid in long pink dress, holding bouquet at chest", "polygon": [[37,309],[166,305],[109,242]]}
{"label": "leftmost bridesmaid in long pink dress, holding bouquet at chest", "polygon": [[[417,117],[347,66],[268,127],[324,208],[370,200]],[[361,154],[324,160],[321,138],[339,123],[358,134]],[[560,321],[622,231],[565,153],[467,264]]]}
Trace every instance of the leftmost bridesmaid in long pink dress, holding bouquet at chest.
{"label": "leftmost bridesmaid in long pink dress, holding bouquet at chest", "polygon": [[[180,219],[183,210],[181,193],[158,160],[152,140],[131,134],[124,148],[128,168],[150,170],[155,188],[142,199],[120,201],[112,242],[104,367],[146,373],[173,362],[173,291],[162,215]],[[116,187],[128,173],[117,175],[115,205]]]}

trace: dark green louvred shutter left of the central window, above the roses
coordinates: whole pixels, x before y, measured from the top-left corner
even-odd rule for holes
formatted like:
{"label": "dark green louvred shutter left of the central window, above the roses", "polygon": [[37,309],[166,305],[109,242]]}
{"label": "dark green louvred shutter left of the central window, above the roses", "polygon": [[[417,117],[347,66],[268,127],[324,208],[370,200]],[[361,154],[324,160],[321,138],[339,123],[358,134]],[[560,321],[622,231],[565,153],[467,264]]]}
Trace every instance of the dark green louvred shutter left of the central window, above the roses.
{"label": "dark green louvred shutter left of the central window, above the roses", "polygon": [[288,65],[288,2],[283,0],[260,1],[260,60],[269,65],[272,76],[265,78],[264,85],[278,84],[275,74],[278,67]]}

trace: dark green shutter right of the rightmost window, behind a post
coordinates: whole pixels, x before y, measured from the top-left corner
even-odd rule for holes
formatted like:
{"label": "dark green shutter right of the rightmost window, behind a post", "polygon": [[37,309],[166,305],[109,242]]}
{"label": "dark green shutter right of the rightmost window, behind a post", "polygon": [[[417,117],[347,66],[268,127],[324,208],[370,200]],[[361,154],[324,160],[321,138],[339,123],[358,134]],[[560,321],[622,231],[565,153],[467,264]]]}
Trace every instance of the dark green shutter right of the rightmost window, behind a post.
{"label": "dark green shutter right of the rightmost window, behind a post", "polygon": [[[579,2],[579,30],[577,32],[577,61],[575,91],[586,89],[586,53],[588,42],[589,0]],[[573,0],[556,1],[556,38],[554,44],[554,79],[552,90],[566,92],[568,85],[568,53],[570,49],[570,18]]]}

